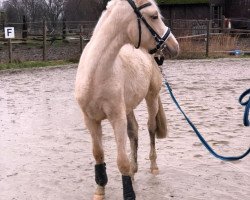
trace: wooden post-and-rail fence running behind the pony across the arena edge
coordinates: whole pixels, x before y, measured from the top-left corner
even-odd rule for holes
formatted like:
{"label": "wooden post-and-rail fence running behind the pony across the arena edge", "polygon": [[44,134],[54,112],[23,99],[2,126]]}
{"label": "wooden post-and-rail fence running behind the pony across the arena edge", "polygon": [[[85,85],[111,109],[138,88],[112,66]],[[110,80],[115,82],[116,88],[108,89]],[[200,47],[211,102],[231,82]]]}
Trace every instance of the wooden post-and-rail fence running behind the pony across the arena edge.
{"label": "wooden post-and-rail fence running behind the pony across the arena edge", "polygon": [[[221,20],[217,22],[165,20],[179,39],[182,54],[198,52],[204,56],[209,56],[213,52],[232,52],[236,49],[250,52],[250,28],[248,29],[250,21],[240,22],[246,28],[230,28]],[[2,23],[0,24],[0,63],[13,60],[77,59],[90,39],[95,25],[95,21]],[[14,27],[16,38],[4,39],[4,27]],[[244,42],[245,40],[247,42]],[[12,49],[10,49],[11,46]],[[190,48],[191,46],[193,47]]]}

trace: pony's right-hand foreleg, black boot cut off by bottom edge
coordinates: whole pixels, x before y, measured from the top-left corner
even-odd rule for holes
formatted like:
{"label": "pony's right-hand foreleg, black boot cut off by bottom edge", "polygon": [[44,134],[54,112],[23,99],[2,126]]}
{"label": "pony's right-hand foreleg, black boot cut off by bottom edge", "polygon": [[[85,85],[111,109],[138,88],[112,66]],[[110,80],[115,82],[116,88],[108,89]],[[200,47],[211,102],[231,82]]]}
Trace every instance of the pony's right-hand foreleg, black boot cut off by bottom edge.
{"label": "pony's right-hand foreleg, black boot cut off by bottom edge", "polygon": [[[117,108],[118,107],[119,106],[117,106]],[[123,198],[124,200],[135,200],[135,193],[130,174],[130,162],[126,153],[127,117],[125,107],[124,109],[113,109],[113,112],[108,116],[108,119],[111,122],[115,133],[117,144],[117,165],[122,174]]]}

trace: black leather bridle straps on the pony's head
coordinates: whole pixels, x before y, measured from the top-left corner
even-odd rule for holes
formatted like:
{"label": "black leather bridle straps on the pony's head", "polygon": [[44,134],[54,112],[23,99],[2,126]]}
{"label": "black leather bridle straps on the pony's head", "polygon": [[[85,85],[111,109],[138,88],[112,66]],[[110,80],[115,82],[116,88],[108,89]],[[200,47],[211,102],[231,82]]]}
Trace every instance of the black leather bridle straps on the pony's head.
{"label": "black leather bridle straps on the pony's head", "polygon": [[138,28],[139,28],[139,41],[138,41],[138,45],[135,48],[138,49],[141,46],[141,34],[142,34],[141,21],[143,21],[143,23],[145,24],[145,26],[147,27],[147,29],[149,30],[149,32],[152,34],[152,36],[154,37],[156,41],[156,47],[154,49],[149,50],[149,53],[154,54],[158,50],[166,48],[166,45],[164,44],[164,42],[170,36],[170,33],[171,33],[170,28],[167,27],[167,31],[164,33],[164,35],[162,37],[159,36],[159,34],[148,24],[148,22],[146,21],[146,19],[142,16],[140,12],[140,10],[142,10],[143,8],[151,6],[152,3],[149,2],[149,3],[143,4],[137,7],[133,0],[127,0],[127,1],[131,5],[131,7],[134,9],[135,14],[137,15],[137,22],[138,22]]}

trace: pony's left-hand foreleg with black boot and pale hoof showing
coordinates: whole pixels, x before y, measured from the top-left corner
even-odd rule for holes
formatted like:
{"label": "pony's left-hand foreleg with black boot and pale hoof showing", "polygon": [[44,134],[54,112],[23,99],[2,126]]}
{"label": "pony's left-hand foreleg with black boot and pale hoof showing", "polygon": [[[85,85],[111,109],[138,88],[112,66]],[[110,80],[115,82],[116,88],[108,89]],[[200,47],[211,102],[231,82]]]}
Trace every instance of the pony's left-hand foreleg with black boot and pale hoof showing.
{"label": "pony's left-hand foreleg with black boot and pale hoof showing", "polygon": [[95,181],[97,189],[95,191],[94,200],[104,199],[105,185],[108,182],[106,174],[106,164],[104,163],[104,152],[102,147],[102,129],[101,122],[89,119],[85,116],[85,124],[91,133],[93,156],[96,161],[95,165]]}

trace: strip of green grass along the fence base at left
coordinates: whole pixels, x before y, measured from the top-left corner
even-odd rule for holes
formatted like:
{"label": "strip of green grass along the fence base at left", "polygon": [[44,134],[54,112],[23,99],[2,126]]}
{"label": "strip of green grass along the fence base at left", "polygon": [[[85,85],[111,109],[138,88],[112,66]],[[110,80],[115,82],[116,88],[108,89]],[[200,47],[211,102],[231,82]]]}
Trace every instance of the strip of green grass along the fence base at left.
{"label": "strip of green grass along the fence base at left", "polygon": [[47,66],[67,65],[73,63],[75,63],[73,60],[13,62],[13,63],[0,64],[0,70],[47,67]]}

